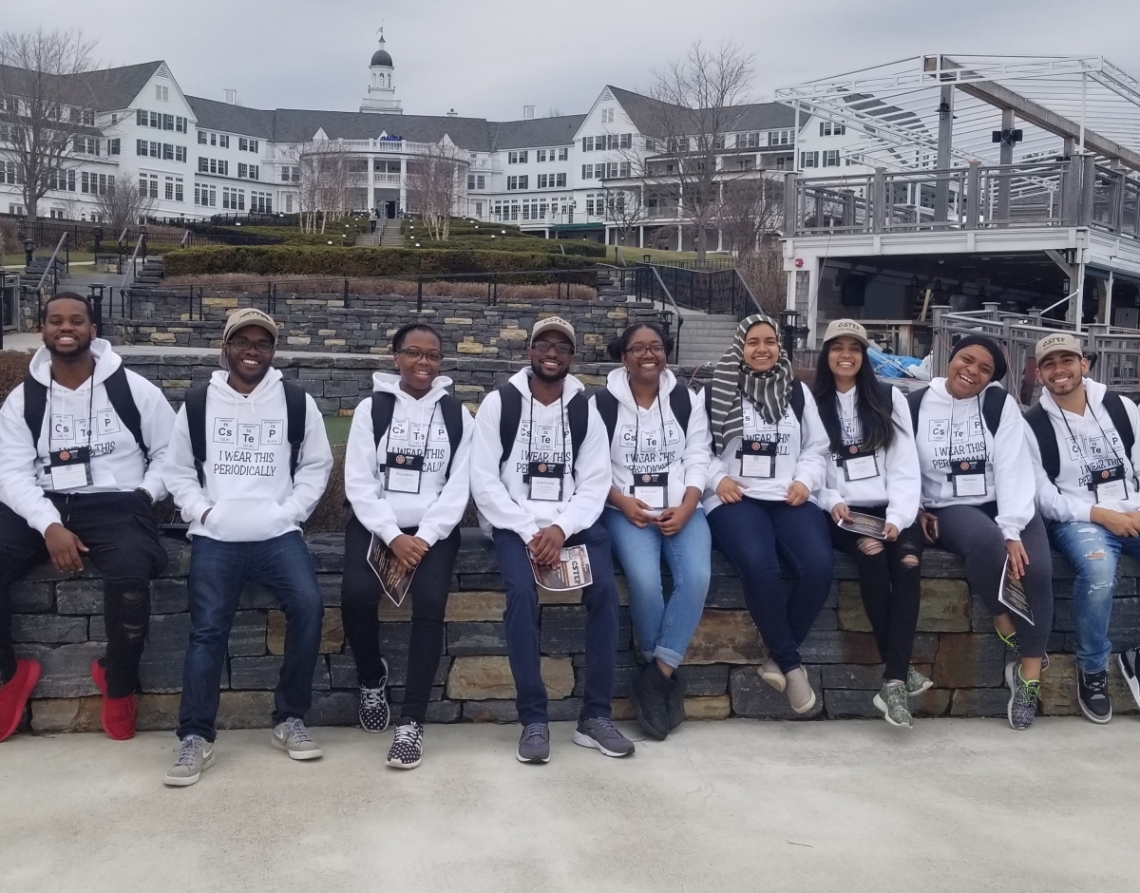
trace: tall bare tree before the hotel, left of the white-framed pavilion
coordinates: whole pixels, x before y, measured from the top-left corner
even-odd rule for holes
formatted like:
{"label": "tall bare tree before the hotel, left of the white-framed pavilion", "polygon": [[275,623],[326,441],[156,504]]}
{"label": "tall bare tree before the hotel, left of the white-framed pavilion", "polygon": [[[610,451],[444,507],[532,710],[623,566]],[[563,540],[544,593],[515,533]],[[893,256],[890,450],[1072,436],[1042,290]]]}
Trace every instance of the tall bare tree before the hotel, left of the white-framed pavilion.
{"label": "tall bare tree before the hotel, left of the white-framed pavilion", "polygon": [[735,43],[706,49],[698,40],[684,58],[653,73],[651,145],[638,171],[654,192],[670,200],[697,235],[705,260],[708,233],[720,216],[718,156],[728,133],[740,130],[740,105],[752,80],[752,57]]}

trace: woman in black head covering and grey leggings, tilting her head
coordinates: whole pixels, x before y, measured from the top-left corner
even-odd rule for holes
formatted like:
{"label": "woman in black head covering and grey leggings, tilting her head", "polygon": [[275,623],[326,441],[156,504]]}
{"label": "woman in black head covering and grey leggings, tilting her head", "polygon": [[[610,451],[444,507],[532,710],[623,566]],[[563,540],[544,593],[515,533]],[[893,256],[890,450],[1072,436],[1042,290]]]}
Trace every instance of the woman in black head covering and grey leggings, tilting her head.
{"label": "woman in black head covering and grey leggings, tilting her head", "polygon": [[[997,383],[1005,368],[993,340],[968,335],[954,346],[946,376],[907,399],[922,472],[922,531],[927,542],[961,555],[970,591],[1019,658],[1005,667],[1007,715],[1013,729],[1024,730],[1033,723],[1048,666],[1053,577],[1049,537],[1034,505],[1027,427]],[[1024,590],[1020,614],[1009,598],[999,599],[1007,563]]]}

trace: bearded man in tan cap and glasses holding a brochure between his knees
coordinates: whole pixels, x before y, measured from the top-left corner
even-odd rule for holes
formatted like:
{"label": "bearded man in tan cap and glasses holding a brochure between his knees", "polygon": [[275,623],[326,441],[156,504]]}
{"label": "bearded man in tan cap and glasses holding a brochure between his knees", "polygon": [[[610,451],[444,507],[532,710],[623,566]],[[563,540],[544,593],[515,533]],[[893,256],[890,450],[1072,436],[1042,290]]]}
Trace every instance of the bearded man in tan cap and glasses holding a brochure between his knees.
{"label": "bearded man in tan cap and glasses holding a brochure between his knees", "polygon": [[634,745],[610,719],[618,638],[618,591],[610,536],[600,518],[610,492],[610,444],[597,409],[569,374],[573,326],[556,316],[530,334],[530,367],[488,395],[475,415],[471,489],[506,583],[507,655],[522,736],[516,757],[546,763],[551,739],[531,562],[559,563],[563,546],[586,546],[593,585],[586,606],[586,687],[573,741],[606,756]]}

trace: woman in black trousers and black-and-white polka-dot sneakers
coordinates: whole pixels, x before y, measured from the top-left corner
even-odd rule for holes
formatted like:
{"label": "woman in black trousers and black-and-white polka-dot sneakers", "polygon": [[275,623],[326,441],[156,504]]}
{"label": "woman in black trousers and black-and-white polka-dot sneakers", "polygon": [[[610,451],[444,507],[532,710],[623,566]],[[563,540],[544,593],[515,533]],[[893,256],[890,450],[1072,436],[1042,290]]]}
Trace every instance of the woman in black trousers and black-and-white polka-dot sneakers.
{"label": "woman in black trousers and black-and-white polka-dot sneakers", "polygon": [[[474,420],[448,395],[439,374],[442,339],[412,323],[392,338],[397,374],[373,375],[373,395],[352,415],[344,455],[344,493],[352,505],[344,531],[341,610],[360,684],[365,731],[388,728],[388,661],[380,650],[380,581],[368,563],[382,541],[400,565],[415,568],[412,638],[400,722],[388,765],[415,769],[423,756],[423,724],[443,650],[443,614],[459,551],[459,521],[470,495]],[[374,428],[386,421],[384,430]],[[449,421],[450,420],[450,421]],[[451,439],[458,437],[458,443]]]}

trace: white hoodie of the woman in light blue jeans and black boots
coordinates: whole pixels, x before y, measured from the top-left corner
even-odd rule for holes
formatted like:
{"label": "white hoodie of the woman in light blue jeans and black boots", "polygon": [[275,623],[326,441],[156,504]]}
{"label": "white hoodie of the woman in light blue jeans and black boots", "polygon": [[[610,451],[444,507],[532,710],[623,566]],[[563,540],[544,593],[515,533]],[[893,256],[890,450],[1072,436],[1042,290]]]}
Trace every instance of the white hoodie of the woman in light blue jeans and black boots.
{"label": "white hoodie of the woman in light blue jeans and black boots", "polygon": [[[629,495],[634,482],[634,468],[638,471],[669,473],[668,505],[681,505],[689,487],[705,489],[712,454],[705,400],[687,391],[692,411],[686,432],[673,415],[669,400],[673,389],[679,387],[682,385],[677,383],[673,372],[665,370],[659,380],[659,400],[646,409],[638,406],[634,399],[633,391],[629,390],[629,375],[625,368],[612,370],[606,378],[605,388],[618,400],[618,420],[613,428],[613,443],[610,445],[610,469],[613,486],[619,493]],[[596,407],[596,399],[591,398],[591,404]],[[638,444],[634,443],[635,435]],[[650,448],[646,444],[658,446]],[[641,447],[640,454],[638,447]],[[609,508],[613,509],[612,505]],[[648,513],[656,515],[660,512]]]}

